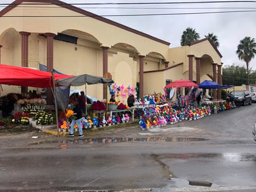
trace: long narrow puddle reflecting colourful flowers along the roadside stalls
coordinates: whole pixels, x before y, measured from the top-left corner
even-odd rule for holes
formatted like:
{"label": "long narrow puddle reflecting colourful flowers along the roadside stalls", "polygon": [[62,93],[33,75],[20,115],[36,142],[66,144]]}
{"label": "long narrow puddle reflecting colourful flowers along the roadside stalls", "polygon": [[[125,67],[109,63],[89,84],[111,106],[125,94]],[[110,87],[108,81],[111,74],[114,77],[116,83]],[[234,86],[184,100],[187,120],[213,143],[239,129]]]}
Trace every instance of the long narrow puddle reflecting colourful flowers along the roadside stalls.
{"label": "long narrow puddle reflecting colourful flowers along the roadside stalls", "polygon": [[142,137],[142,138],[128,138],[128,137],[106,137],[95,139],[70,139],[64,140],[63,144],[115,144],[121,142],[193,142],[204,141],[204,138],[190,138],[190,137]]}

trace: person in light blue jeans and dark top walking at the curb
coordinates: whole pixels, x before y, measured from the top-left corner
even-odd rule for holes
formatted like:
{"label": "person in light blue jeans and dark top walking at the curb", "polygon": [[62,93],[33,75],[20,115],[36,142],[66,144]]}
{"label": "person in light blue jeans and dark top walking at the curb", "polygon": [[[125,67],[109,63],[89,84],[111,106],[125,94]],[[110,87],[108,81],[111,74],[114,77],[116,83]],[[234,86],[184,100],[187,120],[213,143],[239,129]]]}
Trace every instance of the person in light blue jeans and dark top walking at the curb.
{"label": "person in light blue jeans and dark top walking at the curb", "polygon": [[73,111],[74,111],[74,116],[75,118],[72,119],[72,122],[70,124],[70,134],[68,135],[68,137],[74,137],[74,126],[75,124],[77,124],[78,126],[78,131],[79,131],[79,135],[78,137],[83,137],[83,129],[81,126],[81,121],[83,118],[83,111],[81,110],[80,106],[78,105],[77,101],[73,102]]}

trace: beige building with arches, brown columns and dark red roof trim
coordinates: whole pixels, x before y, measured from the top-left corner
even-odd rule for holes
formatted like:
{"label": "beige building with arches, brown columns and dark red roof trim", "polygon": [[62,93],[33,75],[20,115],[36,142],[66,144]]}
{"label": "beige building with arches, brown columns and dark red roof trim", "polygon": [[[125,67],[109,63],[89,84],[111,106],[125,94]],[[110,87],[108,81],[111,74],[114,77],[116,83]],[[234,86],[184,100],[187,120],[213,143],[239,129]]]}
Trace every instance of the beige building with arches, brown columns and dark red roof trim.
{"label": "beige building with arches, brown columns and dark red roof trim", "polygon": [[[117,86],[137,86],[140,98],[164,93],[169,80],[222,85],[222,55],[209,39],[170,48],[169,42],[57,0],[16,0],[0,12],[0,22],[1,64],[39,68],[42,63],[47,71],[67,75],[110,73]],[[21,93],[17,86],[2,88],[1,96]],[[89,85],[87,93],[109,98],[106,89]]]}

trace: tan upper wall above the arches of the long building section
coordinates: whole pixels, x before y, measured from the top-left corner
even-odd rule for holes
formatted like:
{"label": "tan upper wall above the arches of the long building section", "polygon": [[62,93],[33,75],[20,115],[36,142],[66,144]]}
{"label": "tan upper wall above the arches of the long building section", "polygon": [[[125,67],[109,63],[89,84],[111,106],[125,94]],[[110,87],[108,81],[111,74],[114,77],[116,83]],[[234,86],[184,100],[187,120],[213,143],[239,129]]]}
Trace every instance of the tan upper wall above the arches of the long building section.
{"label": "tan upper wall above the arches of the long building section", "polygon": [[[46,8],[49,7],[49,8]],[[56,7],[56,8],[54,8]],[[6,13],[6,16],[81,16],[81,17],[0,17],[1,29],[13,27],[17,31],[57,34],[67,29],[75,29],[93,36],[105,47],[111,47],[116,43],[127,43],[134,46],[140,55],[150,52],[161,53],[165,58],[168,55],[168,45],[150,40],[147,37],[134,34],[128,30],[121,29],[106,22],[85,17],[69,9],[58,8],[54,5],[38,5],[30,8],[21,5]],[[103,30],[104,29],[104,30]],[[106,38],[107,37],[107,38]]]}

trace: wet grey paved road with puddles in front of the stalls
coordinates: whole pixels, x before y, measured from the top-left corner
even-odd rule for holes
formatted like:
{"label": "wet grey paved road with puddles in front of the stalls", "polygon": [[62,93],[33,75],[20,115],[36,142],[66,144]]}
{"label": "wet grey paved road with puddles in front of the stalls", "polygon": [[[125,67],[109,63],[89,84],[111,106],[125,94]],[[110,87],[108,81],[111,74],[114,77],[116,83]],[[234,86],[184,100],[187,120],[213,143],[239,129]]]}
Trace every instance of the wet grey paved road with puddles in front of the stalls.
{"label": "wet grey paved road with puddles in front of the stalls", "polygon": [[256,191],[255,114],[252,104],[163,129],[116,127],[83,139],[0,135],[0,191]]}

